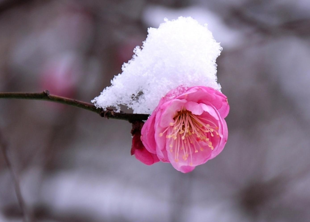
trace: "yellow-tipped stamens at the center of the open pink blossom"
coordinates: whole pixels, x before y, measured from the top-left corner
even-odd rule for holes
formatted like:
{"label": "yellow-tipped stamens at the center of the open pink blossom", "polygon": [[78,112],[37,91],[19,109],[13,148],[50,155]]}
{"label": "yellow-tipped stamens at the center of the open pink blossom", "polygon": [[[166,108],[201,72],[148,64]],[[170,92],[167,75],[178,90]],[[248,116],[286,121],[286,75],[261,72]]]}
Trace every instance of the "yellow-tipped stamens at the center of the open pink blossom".
{"label": "yellow-tipped stamens at the center of the open pink blossom", "polygon": [[184,161],[190,158],[190,166],[193,165],[193,154],[198,150],[203,151],[202,146],[209,146],[214,149],[211,137],[219,135],[218,126],[210,119],[194,115],[188,110],[182,110],[174,118],[175,122],[170,122],[170,127],[159,134],[162,136],[166,131],[170,152],[174,152],[175,162],[179,161],[180,155]]}

